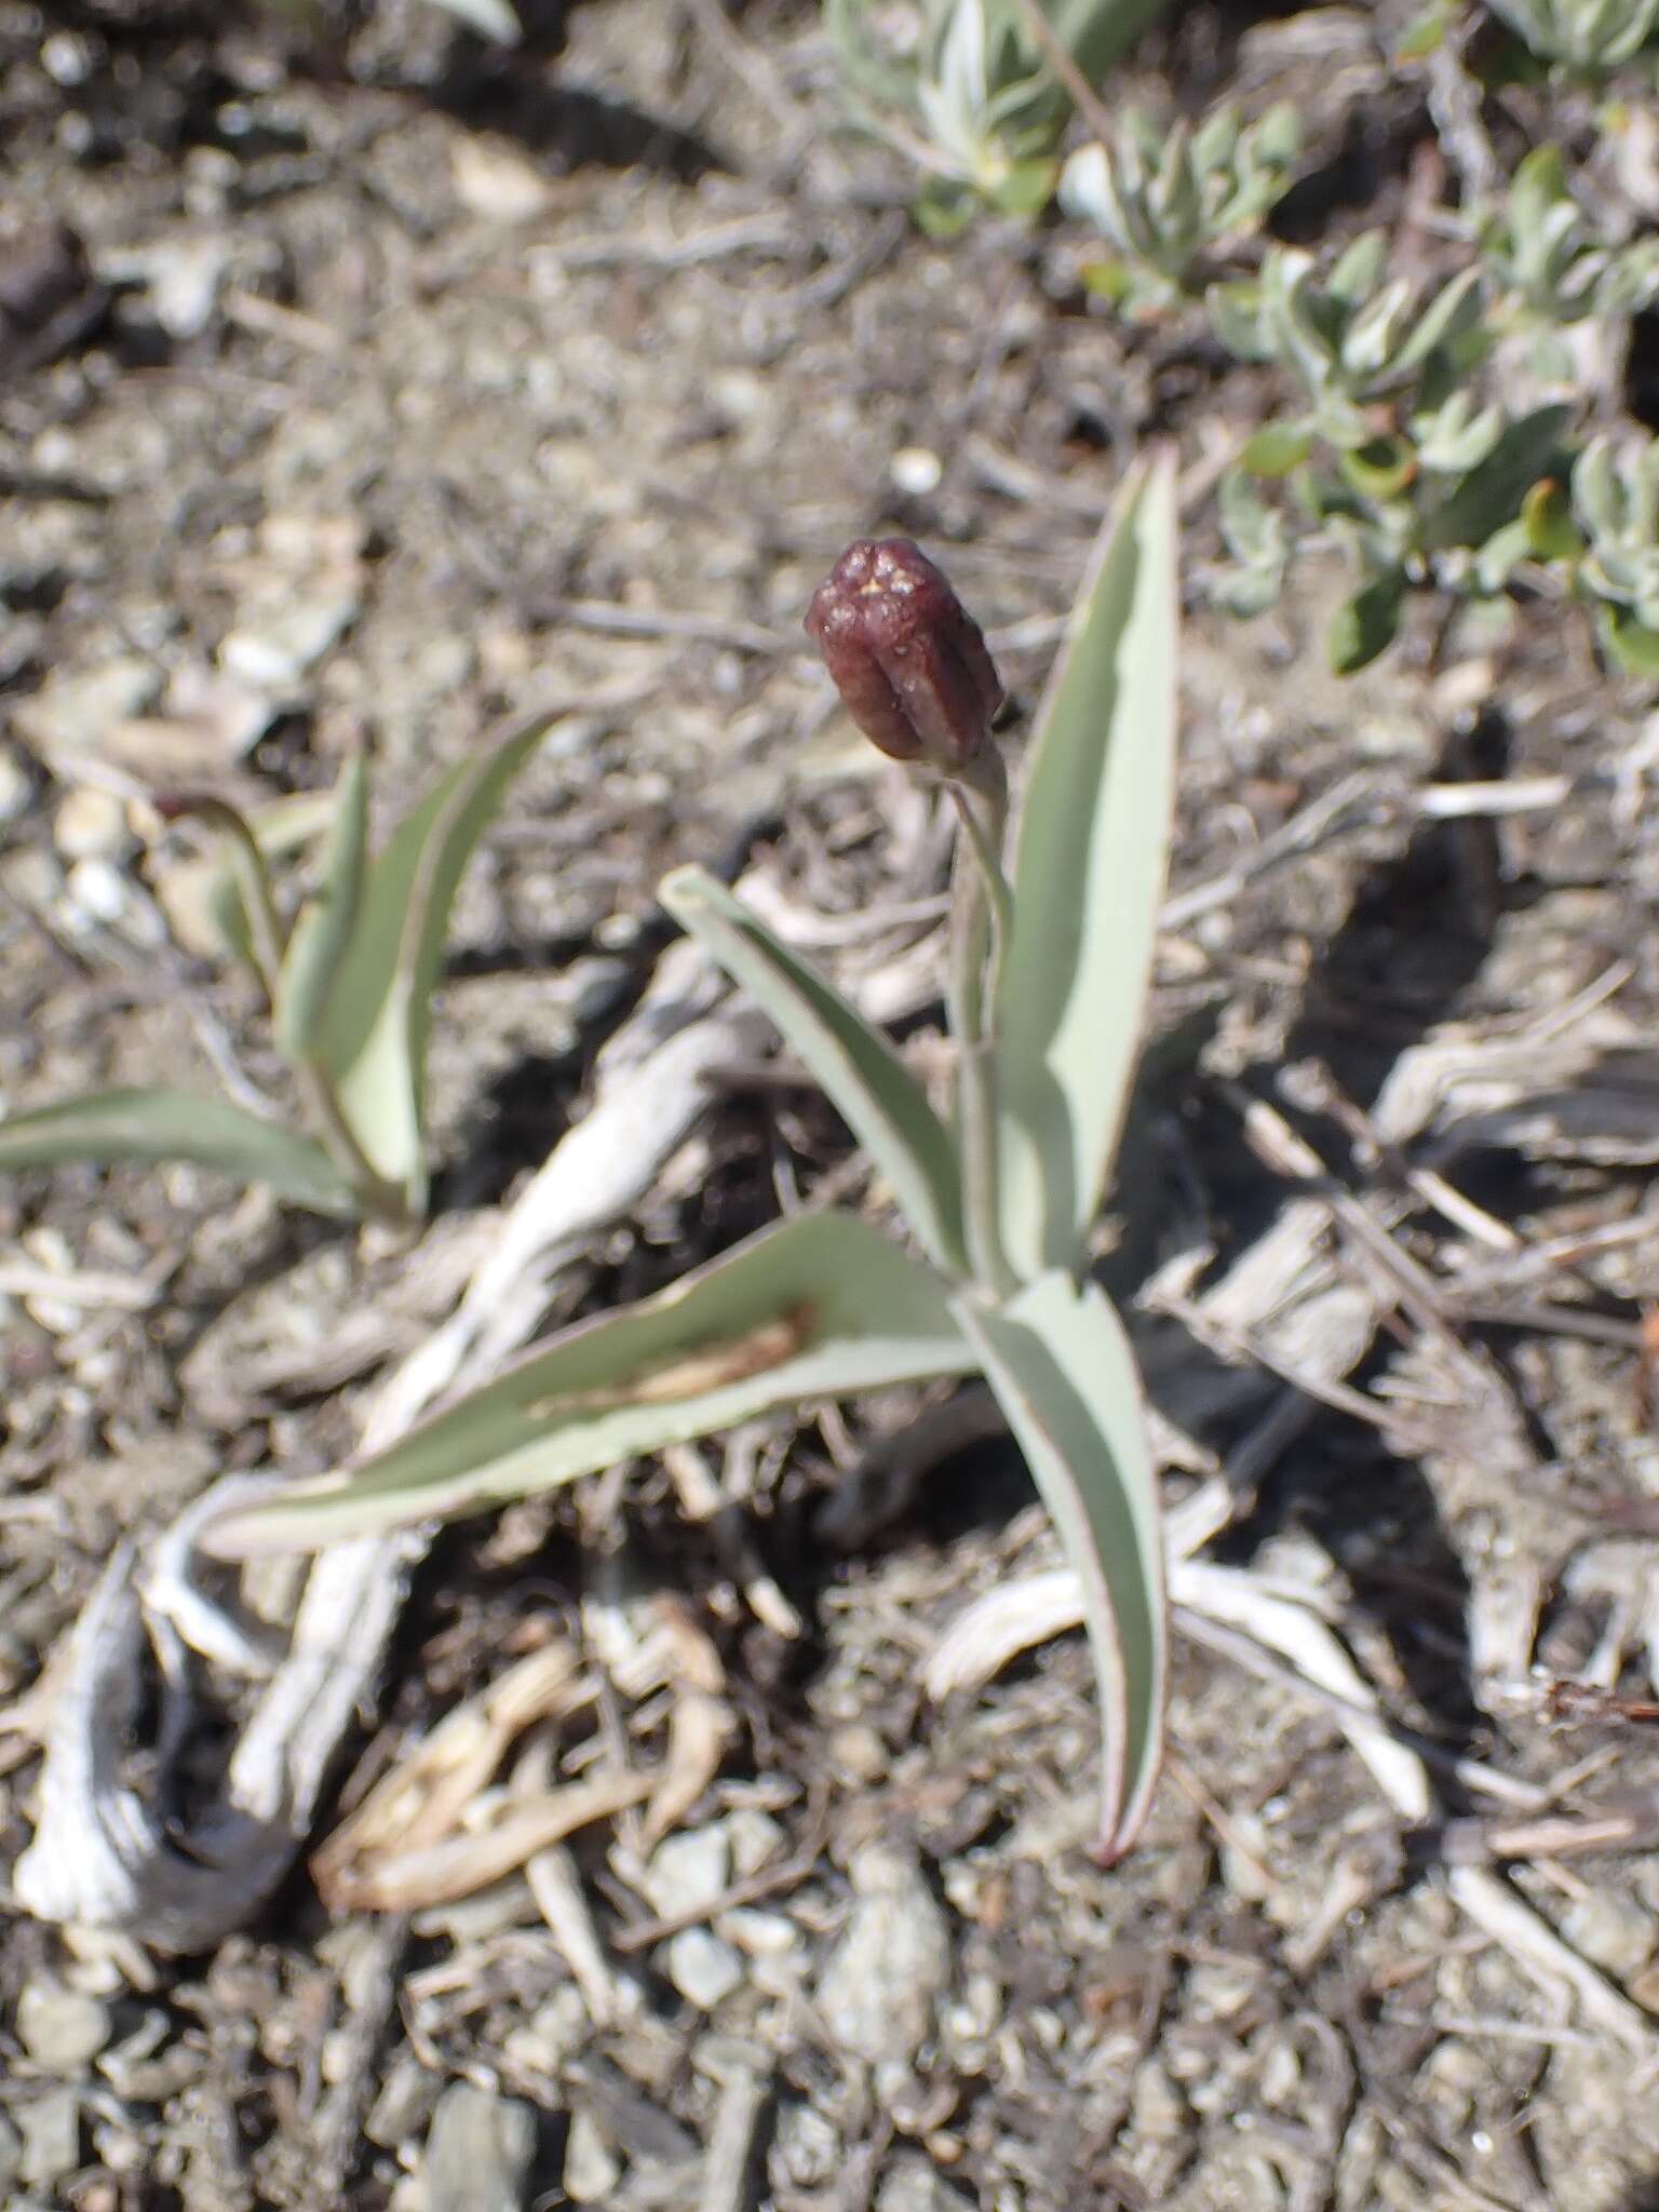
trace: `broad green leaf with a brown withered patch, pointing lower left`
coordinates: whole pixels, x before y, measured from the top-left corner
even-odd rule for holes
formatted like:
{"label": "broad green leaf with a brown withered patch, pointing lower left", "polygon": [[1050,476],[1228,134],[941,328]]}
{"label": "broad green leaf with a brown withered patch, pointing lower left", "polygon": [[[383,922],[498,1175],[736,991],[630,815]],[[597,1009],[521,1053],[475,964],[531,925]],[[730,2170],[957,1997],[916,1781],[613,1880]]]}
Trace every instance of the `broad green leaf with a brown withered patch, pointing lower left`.
{"label": "broad green leaf with a brown withered patch, pointing lower left", "polygon": [[975,1365],[931,1267],[856,1214],[801,1214],[577,1321],[385,1451],[228,1515],[206,1542],[243,1557],[478,1513],[781,1405]]}

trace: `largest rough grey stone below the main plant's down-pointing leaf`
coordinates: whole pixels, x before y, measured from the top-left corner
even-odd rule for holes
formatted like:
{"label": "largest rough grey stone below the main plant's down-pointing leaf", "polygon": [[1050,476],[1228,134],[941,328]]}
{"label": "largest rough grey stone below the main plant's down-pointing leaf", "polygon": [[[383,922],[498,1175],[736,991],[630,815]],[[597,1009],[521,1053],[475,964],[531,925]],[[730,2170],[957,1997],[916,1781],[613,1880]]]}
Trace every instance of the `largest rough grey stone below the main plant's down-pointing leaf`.
{"label": "largest rough grey stone below the main plant's down-pointing leaf", "polygon": [[951,1978],[949,1922],[914,1856],[869,1843],[847,1874],[858,1902],[818,1978],[818,2011],[854,2057],[905,2064]]}

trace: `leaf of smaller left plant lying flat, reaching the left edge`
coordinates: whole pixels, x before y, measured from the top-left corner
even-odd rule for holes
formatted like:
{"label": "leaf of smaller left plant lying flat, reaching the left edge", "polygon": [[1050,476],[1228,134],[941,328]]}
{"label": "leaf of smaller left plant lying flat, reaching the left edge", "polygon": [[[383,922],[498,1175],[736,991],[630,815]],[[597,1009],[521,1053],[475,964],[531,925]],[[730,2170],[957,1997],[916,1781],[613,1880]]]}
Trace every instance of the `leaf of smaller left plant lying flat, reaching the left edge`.
{"label": "leaf of smaller left plant lying flat, reaching the left edge", "polygon": [[319,1214],[358,1212],[352,1186],[327,1152],[279,1121],[261,1121],[228,1099],[188,1091],[93,1091],[0,1121],[0,1172],[117,1159],[188,1159],[239,1183],[265,1183]]}

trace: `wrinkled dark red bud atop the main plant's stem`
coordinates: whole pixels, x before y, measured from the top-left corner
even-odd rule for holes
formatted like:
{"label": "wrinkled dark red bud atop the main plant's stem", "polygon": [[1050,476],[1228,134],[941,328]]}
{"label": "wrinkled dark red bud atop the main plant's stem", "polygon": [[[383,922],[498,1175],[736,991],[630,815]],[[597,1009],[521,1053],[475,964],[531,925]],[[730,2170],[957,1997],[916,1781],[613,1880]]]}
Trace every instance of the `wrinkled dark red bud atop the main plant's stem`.
{"label": "wrinkled dark red bud atop the main plant's stem", "polygon": [[812,593],[807,637],[841,703],[894,761],[960,774],[984,748],[1002,684],[951,580],[909,538],[860,538]]}

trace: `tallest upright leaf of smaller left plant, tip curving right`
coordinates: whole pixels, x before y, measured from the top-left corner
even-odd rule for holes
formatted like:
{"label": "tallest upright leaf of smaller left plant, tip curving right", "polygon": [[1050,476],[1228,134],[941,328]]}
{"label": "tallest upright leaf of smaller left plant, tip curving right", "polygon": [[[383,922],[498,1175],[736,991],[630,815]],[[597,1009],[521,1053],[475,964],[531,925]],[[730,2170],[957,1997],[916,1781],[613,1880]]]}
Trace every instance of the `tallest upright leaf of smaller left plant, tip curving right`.
{"label": "tallest upright leaf of smaller left plant, tip curving right", "polygon": [[332,1077],[365,1159],[403,1188],[411,1212],[427,1197],[427,1035],[449,909],[507,785],[555,721],[557,714],[535,714],[469,754],[405,814],[369,869],[345,962],[312,1040],[312,1057]]}

